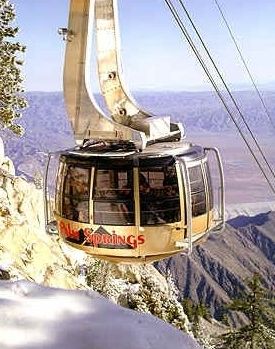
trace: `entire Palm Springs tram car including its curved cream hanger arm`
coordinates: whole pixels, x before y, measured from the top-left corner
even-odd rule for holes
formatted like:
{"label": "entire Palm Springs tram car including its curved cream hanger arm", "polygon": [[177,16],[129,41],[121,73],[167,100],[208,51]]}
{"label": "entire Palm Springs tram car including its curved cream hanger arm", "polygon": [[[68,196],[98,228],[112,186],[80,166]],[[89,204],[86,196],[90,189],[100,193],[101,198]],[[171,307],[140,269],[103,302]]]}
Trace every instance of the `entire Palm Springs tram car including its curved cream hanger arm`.
{"label": "entire Palm Springs tram car including its curved cream hanger arm", "polygon": [[[122,83],[117,12],[115,0],[70,3],[64,96],[76,146],[49,155],[46,228],[53,232],[56,226],[64,242],[95,257],[144,263],[190,252],[209,231],[222,229],[223,171],[216,148],[187,142],[180,124],[137,106]],[[93,32],[100,87],[111,117],[91,93]]]}

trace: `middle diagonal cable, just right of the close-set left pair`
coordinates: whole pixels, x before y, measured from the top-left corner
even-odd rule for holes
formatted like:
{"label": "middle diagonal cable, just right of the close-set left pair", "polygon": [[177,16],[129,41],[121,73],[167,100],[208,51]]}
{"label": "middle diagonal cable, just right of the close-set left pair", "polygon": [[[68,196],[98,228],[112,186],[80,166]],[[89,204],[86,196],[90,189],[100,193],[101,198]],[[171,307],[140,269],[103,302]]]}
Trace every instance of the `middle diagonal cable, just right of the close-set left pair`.
{"label": "middle diagonal cable, just right of the close-set left pair", "polygon": [[269,164],[269,161],[268,161],[268,159],[266,158],[266,156],[265,156],[265,154],[264,154],[264,152],[263,152],[263,150],[262,150],[262,148],[261,148],[261,146],[260,146],[260,144],[259,144],[259,142],[258,142],[256,136],[253,134],[253,131],[251,130],[250,126],[248,125],[248,122],[247,122],[247,120],[246,120],[244,114],[242,113],[240,107],[238,106],[238,103],[236,102],[235,97],[232,95],[232,92],[230,91],[230,89],[229,89],[229,87],[228,87],[228,85],[227,85],[225,79],[223,78],[223,76],[222,76],[222,74],[221,74],[219,68],[217,67],[217,65],[216,65],[216,63],[215,63],[215,61],[214,61],[214,59],[213,59],[213,57],[212,57],[210,51],[208,50],[208,48],[207,48],[205,42],[203,41],[203,38],[202,38],[202,36],[200,35],[200,33],[199,33],[199,31],[198,31],[198,29],[197,29],[197,27],[196,27],[194,21],[192,20],[192,18],[191,18],[191,16],[190,16],[190,14],[189,14],[189,12],[188,12],[186,6],[184,5],[184,3],[183,3],[182,0],[178,0],[178,2],[180,3],[180,5],[181,5],[182,9],[184,10],[186,16],[188,17],[188,19],[189,19],[189,21],[190,21],[190,23],[191,23],[193,29],[195,30],[195,33],[197,34],[197,36],[198,36],[198,38],[199,38],[199,40],[200,40],[200,42],[201,42],[203,48],[205,49],[205,52],[206,52],[207,56],[209,57],[211,63],[213,64],[213,67],[214,67],[215,71],[217,72],[219,78],[221,79],[221,81],[222,81],[222,83],[223,83],[223,85],[224,85],[224,87],[225,87],[225,89],[226,89],[228,95],[230,96],[231,101],[233,102],[235,108],[237,109],[237,111],[238,111],[238,113],[239,113],[239,115],[240,115],[242,121],[244,122],[244,124],[245,124],[245,126],[246,126],[248,132],[250,133],[250,135],[251,135],[253,141],[255,142],[257,149],[259,150],[260,154],[262,155],[262,157],[263,157],[263,159],[264,159],[264,162],[266,163],[266,165],[267,165],[269,171],[272,173],[272,176],[273,176],[274,179],[275,179],[275,172],[273,171],[271,165]]}

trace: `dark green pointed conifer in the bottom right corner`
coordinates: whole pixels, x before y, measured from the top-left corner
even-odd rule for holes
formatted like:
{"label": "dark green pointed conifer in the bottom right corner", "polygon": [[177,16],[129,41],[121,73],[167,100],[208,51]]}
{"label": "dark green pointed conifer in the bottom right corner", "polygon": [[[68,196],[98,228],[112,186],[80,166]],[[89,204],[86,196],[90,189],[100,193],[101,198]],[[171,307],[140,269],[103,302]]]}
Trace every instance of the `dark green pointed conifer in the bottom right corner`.
{"label": "dark green pointed conifer in the bottom right corner", "polygon": [[241,311],[249,319],[247,325],[218,337],[217,349],[274,349],[274,315],[270,311],[272,297],[255,274],[247,283],[248,291],[229,306],[229,310]]}

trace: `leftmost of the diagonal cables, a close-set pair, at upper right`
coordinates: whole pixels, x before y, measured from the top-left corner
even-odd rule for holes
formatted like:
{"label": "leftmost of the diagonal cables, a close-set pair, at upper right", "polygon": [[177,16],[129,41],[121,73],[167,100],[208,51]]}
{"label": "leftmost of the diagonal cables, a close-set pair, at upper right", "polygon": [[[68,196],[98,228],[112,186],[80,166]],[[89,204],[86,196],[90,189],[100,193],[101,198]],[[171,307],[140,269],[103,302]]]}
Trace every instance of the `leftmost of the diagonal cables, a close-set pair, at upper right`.
{"label": "leftmost of the diagonal cables, a close-set pair, at upper right", "polygon": [[203,61],[203,59],[202,59],[200,53],[198,52],[198,50],[197,50],[197,48],[196,48],[196,46],[195,46],[193,40],[191,39],[190,35],[188,34],[188,31],[187,31],[186,27],[184,26],[183,22],[181,21],[181,19],[180,19],[179,15],[178,15],[178,13],[177,13],[177,11],[176,11],[174,5],[171,3],[171,0],[164,0],[164,1],[165,1],[165,3],[167,4],[167,6],[168,6],[168,8],[169,8],[171,14],[173,15],[175,21],[177,22],[177,24],[178,24],[178,26],[179,26],[179,28],[180,28],[182,34],[184,35],[184,37],[186,38],[187,42],[188,42],[189,45],[191,46],[191,48],[192,48],[194,54],[196,55],[196,57],[197,57],[199,63],[201,64],[201,66],[202,66],[204,72],[206,73],[208,79],[210,80],[212,86],[214,87],[214,89],[215,89],[217,95],[219,96],[219,98],[220,98],[222,104],[224,105],[226,111],[227,111],[228,114],[230,115],[230,117],[231,117],[233,123],[235,124],[237,130],[239,131],[239,133],[240,133],[242,139],[244,140],[244,142],[245,142],[247,148],[249,149],[251,155],[253,156],[254,160],[256,161],[256,163],[257,163],[257,165],[258,165],[258,167],[259,167],[259,169],[260,169],[262,175],[264,176],[264,178],[266,179],[267,183],[269,184],[269,187],[270,187],[271,191],[272,191],[273,193],[275,193],[275,187],[272,185],[271,181],[268,179],[268,177],[267,177],[267,175],[266,175],[266,173],[265,173],[264,168],[262,167],[262,165],[260,164],[260,162],[259,162],[259,160],[257,159],[256,155],[254,154],[253,149],[252,149],[251,146],[249,145],[249,142],[246,140],[245,136],[243,135],[243,132],[242,132],[240,126],[238,125],[237,121],[235,120],[235,117],[234,117],[234,115],[232,114],[230,108],[229,108],[228,105],[226,104],[226,102],[225,102],[225,100],[224,100],[224,98],[223,98],[223,96],[222,96],[222,94],[221,94],[221,92],[220,92],[220,90],[219,90],[219,88],[218,88],[218,86],[217,86],[215,80],[214,80],[213,77],[211,76],[211,74],[210,74],[210,72],[209,72],[209,70],[208,70],[206,64],[204,63],[204,61]]}

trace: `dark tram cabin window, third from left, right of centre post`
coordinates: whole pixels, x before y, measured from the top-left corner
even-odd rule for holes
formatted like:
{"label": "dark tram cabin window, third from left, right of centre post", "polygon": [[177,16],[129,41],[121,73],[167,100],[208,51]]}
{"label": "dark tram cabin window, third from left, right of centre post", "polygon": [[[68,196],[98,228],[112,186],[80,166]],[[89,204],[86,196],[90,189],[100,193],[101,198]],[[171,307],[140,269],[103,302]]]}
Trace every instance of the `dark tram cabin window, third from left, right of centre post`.
{"label": "dark tram cabin window, third from left, right of centre post", "polygon": [[175,166],[140,168],[141,225],[180,221],[180,199]]}

